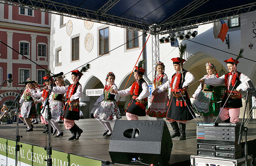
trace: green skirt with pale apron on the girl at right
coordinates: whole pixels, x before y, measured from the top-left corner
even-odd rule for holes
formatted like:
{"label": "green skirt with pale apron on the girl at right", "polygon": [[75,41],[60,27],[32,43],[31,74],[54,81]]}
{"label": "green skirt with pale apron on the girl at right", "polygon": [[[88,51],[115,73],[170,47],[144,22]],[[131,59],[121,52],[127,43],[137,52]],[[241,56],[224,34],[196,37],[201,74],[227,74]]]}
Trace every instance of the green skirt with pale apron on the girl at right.
{"label": "green skirt with pale apron on the girl at right", "polygon": [[193,109],[201,116],[218,116],[219,110],[214,92],[201,91],[193,101]]}

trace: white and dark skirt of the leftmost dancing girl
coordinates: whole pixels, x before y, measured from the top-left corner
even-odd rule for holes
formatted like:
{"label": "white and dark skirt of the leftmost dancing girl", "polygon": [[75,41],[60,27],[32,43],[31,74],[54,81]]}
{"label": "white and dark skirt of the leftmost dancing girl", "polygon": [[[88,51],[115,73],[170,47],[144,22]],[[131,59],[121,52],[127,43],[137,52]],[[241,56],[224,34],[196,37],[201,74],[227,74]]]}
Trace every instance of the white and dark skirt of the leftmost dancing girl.
{"label": "white and dark skirt of the leftmost dancing girl", "polygon": [[22,118],[37,118],[37,109],[34,102],[24,102],[21,106],[19,117]]}

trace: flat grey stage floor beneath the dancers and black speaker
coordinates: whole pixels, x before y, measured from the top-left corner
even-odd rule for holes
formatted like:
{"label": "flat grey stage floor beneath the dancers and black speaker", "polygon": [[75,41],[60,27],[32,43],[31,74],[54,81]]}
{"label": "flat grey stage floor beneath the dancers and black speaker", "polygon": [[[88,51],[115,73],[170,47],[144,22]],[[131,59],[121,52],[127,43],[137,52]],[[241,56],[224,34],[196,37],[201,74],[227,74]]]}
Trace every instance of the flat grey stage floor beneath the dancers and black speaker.
{"label": "flat grey stage floor beneath the dancers and black speaker", "polygon": [[[121,120],[127,120],[125,116]],[[155,120],[151,117],[139,117],[139,120]],[[241,120],[240,120],[241,121]],[[66,130],[64,124],[59,124],[64,136],[54,138],[51,137],[52,148],[55,150],[61,150],[71,152],[79,155],[89,156],[101,160],[107,160],[111,162],[109,155],[109,141],[110,137],[102,136],[104,127],[95,119],[82,119],[76,121],[76,124],[83,129],[83,133],[79,140],[67,140],[71,133]],[[111,124],[113,128],[114,124]],[[170,134],[173,133],[172,127],[168,124]],[[247,127],[249,128],[248,140],[256,138],[256,120],[251,120]],[[0,125],[1,137],[15,140],[16,136],[16,124],[3,124]],[[25,125],[19,124],[21,142],[36,144],[45,146],[45,134],[43,131],[43,124],[35,124],[34,131],[25,132]],[[154,133],[152,133],[153,135]],[[197,151],[197,138],[196,138],[196,123],[191,120],[186,125],[186,140],[178,140],[173,138],[173,148],[171,152],[171,158],[169,166],[184,165],[190,166],[190,155],[196,155]],[[48,140],[48,137],[47,137]],[[244,137],[243,137],[244,140]],[[48,143],[47,143],[48,145]],[[117,166],[117,164],[111,164]]]}

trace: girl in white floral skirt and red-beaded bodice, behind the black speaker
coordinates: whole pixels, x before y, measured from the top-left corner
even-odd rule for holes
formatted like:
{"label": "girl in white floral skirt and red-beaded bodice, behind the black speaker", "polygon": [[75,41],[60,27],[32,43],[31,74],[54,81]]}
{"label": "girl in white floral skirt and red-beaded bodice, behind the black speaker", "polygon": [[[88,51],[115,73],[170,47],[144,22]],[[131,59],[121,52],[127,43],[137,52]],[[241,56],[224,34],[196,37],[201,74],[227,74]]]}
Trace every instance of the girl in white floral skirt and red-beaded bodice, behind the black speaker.
{"label": "girl in white floral skirt and red-beaded bodice, behind the black speaker", "polygon": [[109,72],[107,74],[104,92],[95,102],[95,107],[91,112],[96,120],[98,120],[105,127],[103,136],[111,136],[112,128],[110,123],[122,118],[115,100],[116,94],[111,93],[112,89],[118,91],[117,86],[114,83],[115,78],[116,76],[113,72]]}

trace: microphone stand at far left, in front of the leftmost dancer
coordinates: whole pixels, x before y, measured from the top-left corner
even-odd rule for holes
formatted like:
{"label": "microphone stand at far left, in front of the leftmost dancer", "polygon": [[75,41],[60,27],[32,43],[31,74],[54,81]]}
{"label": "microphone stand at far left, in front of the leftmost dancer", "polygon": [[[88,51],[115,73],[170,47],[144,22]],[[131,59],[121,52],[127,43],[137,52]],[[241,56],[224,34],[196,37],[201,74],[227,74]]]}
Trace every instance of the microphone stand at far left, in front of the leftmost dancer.
{"label": "microphone stand at far left, in front of the leftmost dancer", "polygon": [[[17,84],[16,84],[17,85]],[[26,84],[24,85],[24,87],[22,89],[20,89],[20,93],[19,95],[16,96],[14,102],[12,103],[11,107],[13,106],[13,104],[16,102],[16,100],[18,101],[18,99],[20,98],[21,92],[24,90],[24,88],[26,87]],[[10,108],[11,108],[10,107]],[[15,145],[15,166],[18,166],[18,155],[20,152],[20,147],[22,147],[22,145],[20,145],[20,138],[22,138],[22,135],[19,135],[19,111],[20,111],[20,102],[18,101],[17,103],[15,103],[15,107],[16,107],[16,112],[17,112],[17,117],[16,117],[16,145]]]}

